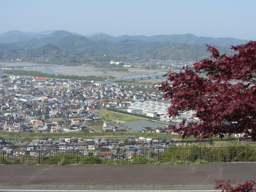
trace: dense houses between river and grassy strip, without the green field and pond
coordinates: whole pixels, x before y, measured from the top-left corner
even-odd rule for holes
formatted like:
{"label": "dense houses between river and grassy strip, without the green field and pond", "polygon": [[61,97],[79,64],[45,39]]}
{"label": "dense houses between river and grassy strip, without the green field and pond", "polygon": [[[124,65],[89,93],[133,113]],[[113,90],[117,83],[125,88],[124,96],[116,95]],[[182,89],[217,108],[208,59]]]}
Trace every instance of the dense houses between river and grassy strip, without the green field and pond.
{"label": "dense houses between river and grassy strip, without the green field and pond", "polygon": [[[163,122],[161,128],[141,127],[142,132],[170,132],[166,122],[172,122],[166,112],[169,102],[163,102],[162,93],[152,85],[9,76],[2,79],[0,96],[0,129],[7,132],[89,130],[88,124],[100,121],[98,111],[106,108]],[[131,130],[102,121],[100,131]]]}

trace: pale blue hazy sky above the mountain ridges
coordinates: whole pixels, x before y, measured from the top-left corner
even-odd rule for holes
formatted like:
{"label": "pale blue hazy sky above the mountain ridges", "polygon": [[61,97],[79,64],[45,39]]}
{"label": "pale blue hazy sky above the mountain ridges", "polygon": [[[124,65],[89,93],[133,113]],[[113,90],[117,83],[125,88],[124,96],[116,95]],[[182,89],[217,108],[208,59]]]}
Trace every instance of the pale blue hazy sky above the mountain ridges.
{"label": "pale blue hazy sky above the mountain ridges", "polygon": [[256,40],[256,0],[2,0],[0,33],[192,33]]}

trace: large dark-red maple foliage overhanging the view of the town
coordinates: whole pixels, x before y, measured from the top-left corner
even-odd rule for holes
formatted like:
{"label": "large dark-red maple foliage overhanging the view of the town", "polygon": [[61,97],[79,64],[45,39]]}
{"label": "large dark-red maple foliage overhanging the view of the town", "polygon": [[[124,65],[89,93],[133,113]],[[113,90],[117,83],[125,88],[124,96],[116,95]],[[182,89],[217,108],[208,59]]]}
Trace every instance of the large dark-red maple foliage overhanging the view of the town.
{"label": "large dark-red maple foliage overhanging the view of the town", "polygon": [[[208,46],[208,45],[207,45]],[[211,57],[168,72],[156,90],[171,102],[169,116],[192,110],[196,121],[183,120],[174,132],[197,140],[238,134],[256,141],[256,42],[232,46],[237,54],[220,55],[208,46]]]}

